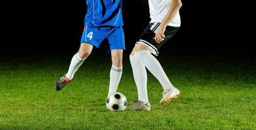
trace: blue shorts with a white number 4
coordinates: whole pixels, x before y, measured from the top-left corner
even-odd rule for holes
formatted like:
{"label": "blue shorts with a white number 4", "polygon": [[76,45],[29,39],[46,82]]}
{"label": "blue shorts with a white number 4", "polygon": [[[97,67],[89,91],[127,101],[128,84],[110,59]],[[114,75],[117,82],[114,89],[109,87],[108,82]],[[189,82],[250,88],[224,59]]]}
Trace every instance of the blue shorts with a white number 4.
{"label": "blue shorts with a white number 4", "polygon": [[81,44],[87,43],[99,48],[104,39],[109,42],[110,50],[125,49],[123,27],[84,27]]}

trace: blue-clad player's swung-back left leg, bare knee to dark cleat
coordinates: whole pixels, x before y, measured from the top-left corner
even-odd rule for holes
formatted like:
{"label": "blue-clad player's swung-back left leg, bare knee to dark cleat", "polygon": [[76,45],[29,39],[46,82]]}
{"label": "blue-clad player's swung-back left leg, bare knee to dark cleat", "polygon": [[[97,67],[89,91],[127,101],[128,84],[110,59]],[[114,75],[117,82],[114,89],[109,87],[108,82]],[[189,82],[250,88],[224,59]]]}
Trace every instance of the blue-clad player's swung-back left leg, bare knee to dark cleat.
{"label": "blue-clad player's swung-back left leg, bare knee to dark cleat", "polygon": [[91,44],[80,44],[80,49],[78,53],[76,53],[71,60],[71,64],[69,66],[69,71],[67,74],[63,75],[55,84],[55,89],[61,90],[67,83],[69,83],[73,77],[74,73],[78,70],[78,68],[82,65],[84,60],[91,54],[91,51],[93,49],[93,45]]}

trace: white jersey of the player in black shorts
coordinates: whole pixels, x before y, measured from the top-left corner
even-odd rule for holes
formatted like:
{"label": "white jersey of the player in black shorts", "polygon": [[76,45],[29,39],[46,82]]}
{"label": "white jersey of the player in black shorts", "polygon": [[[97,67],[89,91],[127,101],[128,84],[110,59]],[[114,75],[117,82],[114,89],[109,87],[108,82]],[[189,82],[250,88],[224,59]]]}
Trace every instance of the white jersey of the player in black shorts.
{"label": "white jersey of the player in black shorts", "polygon": [[[150,23],[161,23],[170,7],[172,0],[148,0],[150,5]],[[178,12],[174,18],[168,23],[169,26],[180,27],[180,13]]]}

